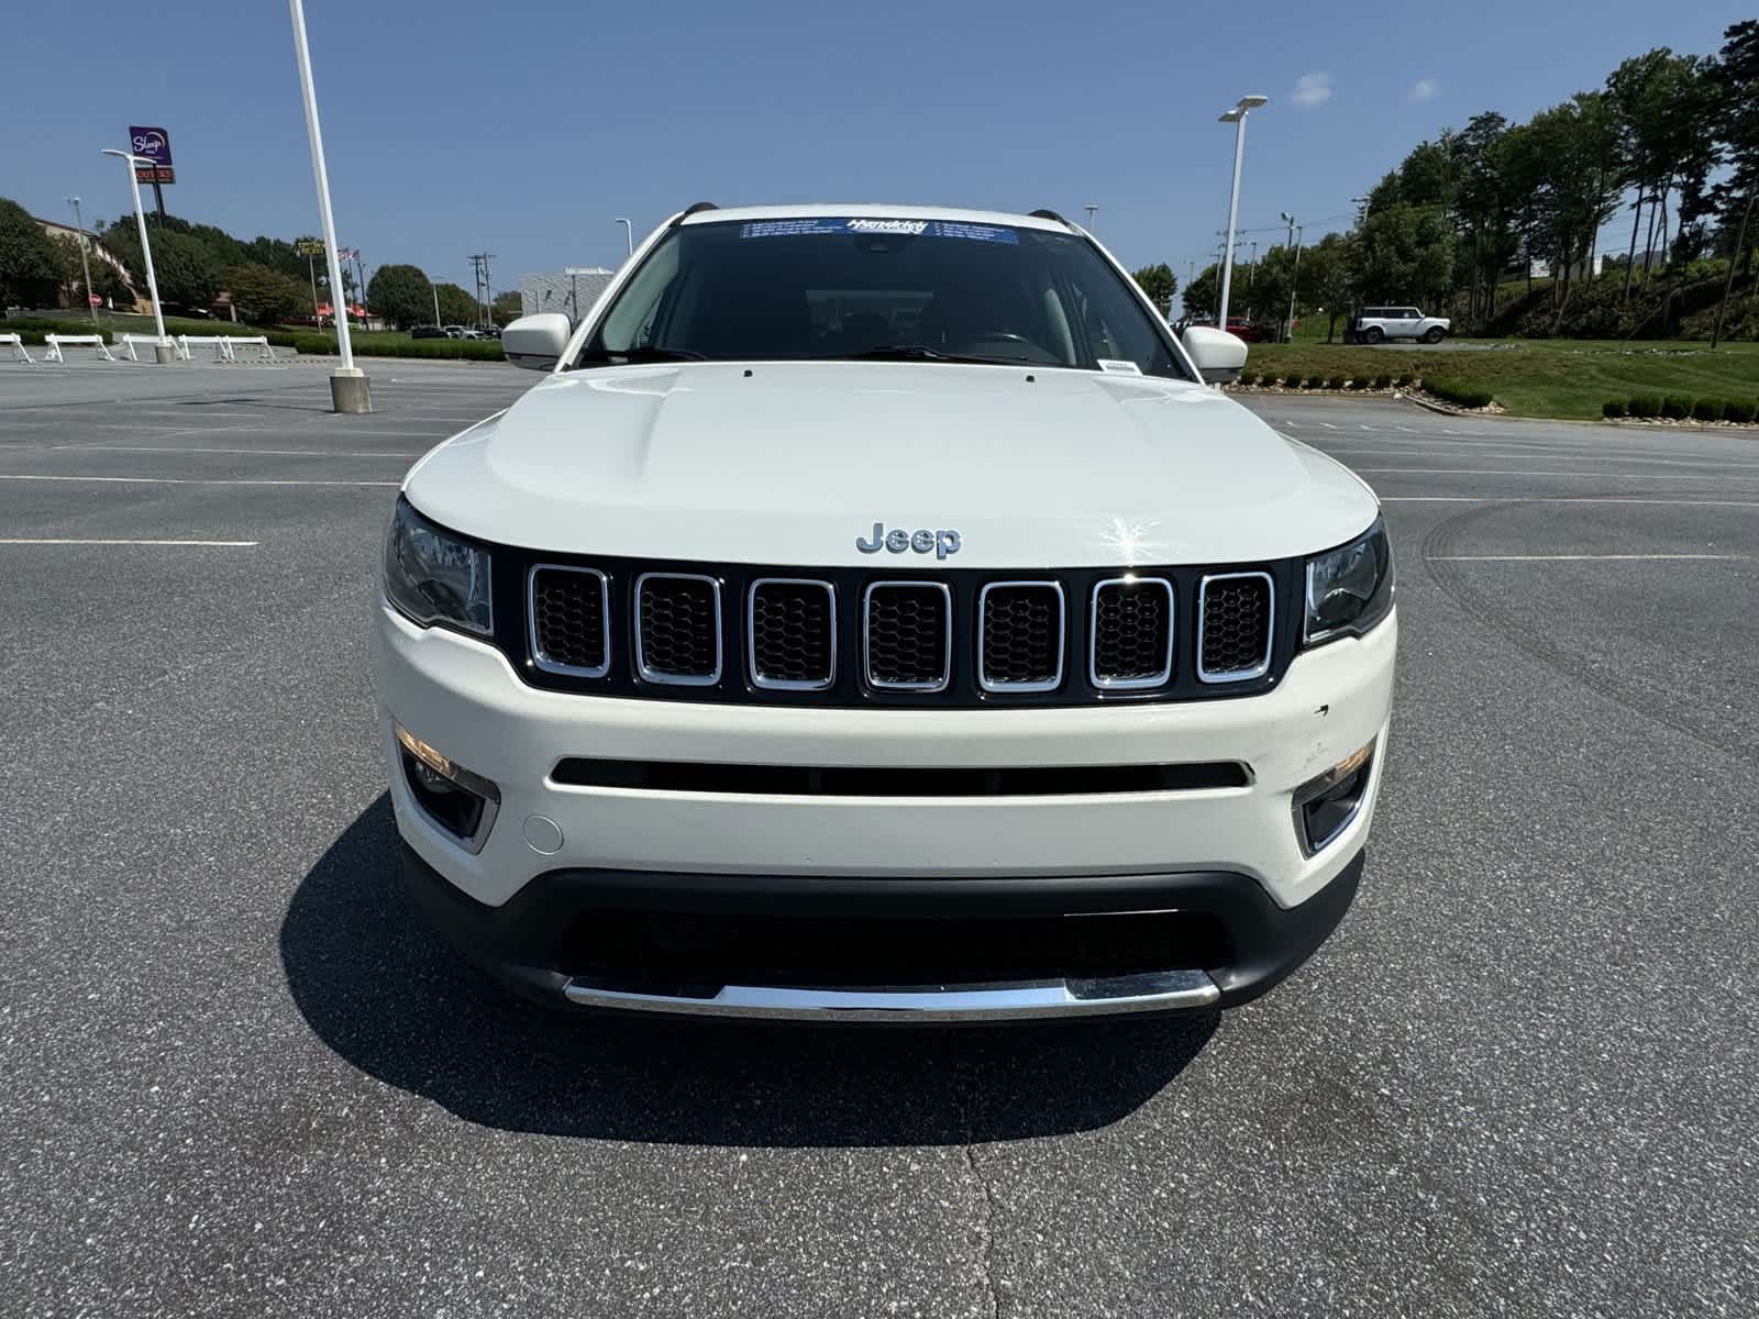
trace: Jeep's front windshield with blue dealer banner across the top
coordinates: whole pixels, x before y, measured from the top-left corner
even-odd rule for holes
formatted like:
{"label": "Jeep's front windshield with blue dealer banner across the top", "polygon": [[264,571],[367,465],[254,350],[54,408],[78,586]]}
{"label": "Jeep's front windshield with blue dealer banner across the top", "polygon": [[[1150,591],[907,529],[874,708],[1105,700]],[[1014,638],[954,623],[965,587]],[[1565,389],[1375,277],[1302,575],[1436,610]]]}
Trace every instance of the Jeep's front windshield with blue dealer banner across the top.
{"label": "Jeep's front windshield with blue dealer banner across the top", "polygon": [[1087,239],[948,220],[670,229],[573,366],[672,359],[946,359],[1189,380]]}

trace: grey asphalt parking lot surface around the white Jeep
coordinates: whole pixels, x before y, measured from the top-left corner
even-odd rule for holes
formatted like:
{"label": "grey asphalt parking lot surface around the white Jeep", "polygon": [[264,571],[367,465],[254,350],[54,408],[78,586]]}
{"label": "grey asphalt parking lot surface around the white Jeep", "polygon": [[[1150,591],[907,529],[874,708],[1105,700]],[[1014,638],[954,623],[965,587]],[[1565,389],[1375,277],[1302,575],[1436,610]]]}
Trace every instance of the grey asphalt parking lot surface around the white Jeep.
{"label": "grey asphalt parking lot surface around the white Jeep", "polygon": [[1224,1018],[551,1020],[396,871],[394,489],[533,376],[0,362],[0,1314],[1759,1312],[1759,441],[1259,397],[1386,501],[1361,897]]}

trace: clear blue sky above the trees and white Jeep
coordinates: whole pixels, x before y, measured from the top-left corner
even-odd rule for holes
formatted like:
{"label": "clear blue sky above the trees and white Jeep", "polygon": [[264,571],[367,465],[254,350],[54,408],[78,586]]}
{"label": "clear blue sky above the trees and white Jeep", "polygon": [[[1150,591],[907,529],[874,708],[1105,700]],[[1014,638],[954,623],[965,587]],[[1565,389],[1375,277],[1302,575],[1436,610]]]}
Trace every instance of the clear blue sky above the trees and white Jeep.
{"label": "clear blue sky above the trees and white Jeep", "polygon": [[[470,285],[614,266],[698,199],[906,200],[1082,218],[1122,260],[1201,266],[1226,223],[1316,237],[1421,137],[1522,118],[1650,46],[1710,53],[1752,0],[1460,5],[306,0],[338,236]],[[285,4],[9,0],[0,195],[128,208],[102,146],[164,125],[167,208],[243,237],[317,230]],[[1617,227],[1617,222],[1615,222]],[[1259,236],[1274,241],[1274,236]],[[1242,251],[1244,255],[1244,251]]]}

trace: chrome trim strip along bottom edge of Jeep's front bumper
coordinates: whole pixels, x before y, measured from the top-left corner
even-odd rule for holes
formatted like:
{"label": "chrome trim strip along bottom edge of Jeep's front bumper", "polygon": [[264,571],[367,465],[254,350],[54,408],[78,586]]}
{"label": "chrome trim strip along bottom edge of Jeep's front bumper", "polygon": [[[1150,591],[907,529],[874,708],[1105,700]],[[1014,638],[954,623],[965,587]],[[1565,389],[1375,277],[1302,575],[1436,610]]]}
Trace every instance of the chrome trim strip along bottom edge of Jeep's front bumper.
{"label": "chrome trim strip along bottom edge of Jeep's front bumper", "polygon": [[563,995],[582,1008],[834,1022],[1001,1022],[1034,1017],[1112,1017],[1208,1008],[1221,990],[1201,971],[1154,971],[1105,980],[909,988],[779,988],[725,985],[712,997],[640,994],[570,980]]}

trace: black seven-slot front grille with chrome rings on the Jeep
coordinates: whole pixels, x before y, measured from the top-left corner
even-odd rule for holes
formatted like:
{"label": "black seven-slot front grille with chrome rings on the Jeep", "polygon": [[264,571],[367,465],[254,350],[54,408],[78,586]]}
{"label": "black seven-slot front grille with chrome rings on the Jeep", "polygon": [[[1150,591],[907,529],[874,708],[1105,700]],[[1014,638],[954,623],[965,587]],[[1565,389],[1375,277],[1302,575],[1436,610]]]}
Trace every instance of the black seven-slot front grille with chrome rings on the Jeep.
{"label": "black seven-slot front grille with chrome rings on the Jeep", "polygon": [[[1298,559],[1031,575],[500,550],[496,644],[538,688],[823,707],[1249,696],[1296,651]],[[1073,660],[1069,658],[1073,656]]]}

